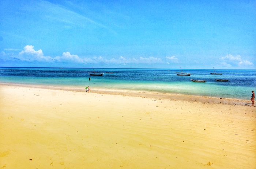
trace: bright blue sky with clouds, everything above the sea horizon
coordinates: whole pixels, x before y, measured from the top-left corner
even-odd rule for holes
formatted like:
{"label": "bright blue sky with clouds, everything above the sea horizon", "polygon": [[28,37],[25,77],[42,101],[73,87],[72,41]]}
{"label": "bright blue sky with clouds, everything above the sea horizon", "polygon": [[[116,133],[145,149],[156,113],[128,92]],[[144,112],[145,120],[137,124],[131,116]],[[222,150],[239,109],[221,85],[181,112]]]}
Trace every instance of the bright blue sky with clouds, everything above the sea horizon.
{"label": "bright blue sky with clouds, everything above the sea horizon", "polygon": [[2,0],[0,66],[256,69],[256,0]]}

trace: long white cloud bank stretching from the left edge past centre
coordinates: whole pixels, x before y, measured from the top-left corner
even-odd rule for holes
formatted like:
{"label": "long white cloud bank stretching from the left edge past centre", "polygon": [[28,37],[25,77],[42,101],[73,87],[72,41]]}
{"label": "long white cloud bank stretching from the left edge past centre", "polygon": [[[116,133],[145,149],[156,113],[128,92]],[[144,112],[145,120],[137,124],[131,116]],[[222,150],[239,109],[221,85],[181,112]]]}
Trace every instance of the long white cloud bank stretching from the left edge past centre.
{"label": "long white cloud bank stretching from the left edge past centre", "polygon": [[[11,50],[8,50],[11,51]],[[26,62],[49,62],[49,63],[92,63],[92,64],[155,64],[155,63],[163,63],[161,58],[156,58],[153,56],[150,57],[139,57],[139,58],[125,58],[124,56],[120,56],[119,58],[110,58],[106,59],[102,56],[94,56],[91,58],[81,58],[78,55],[71,54],[70,52],[63,52],[61,56],[50,57],[44,56],[43,51],[35,50],[34,46],[27,45],[24,47],[24,50],[16,53],[8,53],[1,52],[1,58],[7,60],[8,58],[19,59],[20,61]],[[177,58],[175,56],[166,57],[172,62],[175,62]],[[167,62],[169,64],[169,62]]]}

